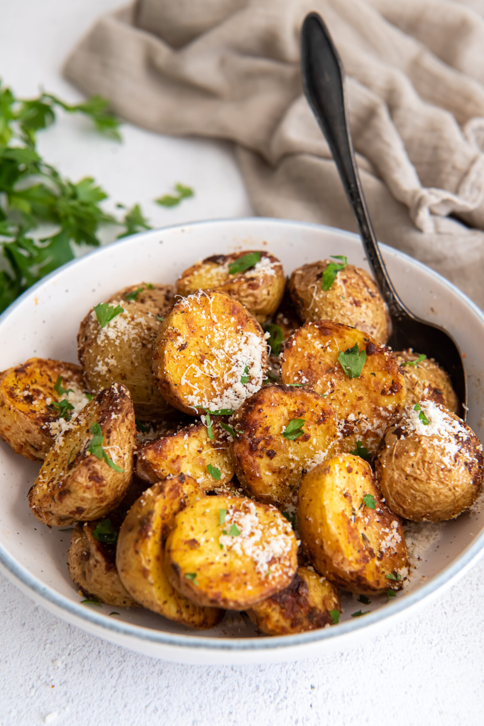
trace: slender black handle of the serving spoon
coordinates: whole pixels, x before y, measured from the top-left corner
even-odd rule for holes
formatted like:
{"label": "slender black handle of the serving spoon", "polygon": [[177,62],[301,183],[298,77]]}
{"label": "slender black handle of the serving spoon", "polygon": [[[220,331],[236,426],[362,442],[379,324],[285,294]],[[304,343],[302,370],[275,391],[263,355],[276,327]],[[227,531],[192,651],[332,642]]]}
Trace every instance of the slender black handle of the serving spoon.
{"label": "slender black handle of the serving spoon", "polygon": [[380,293],[391,317],[399,318],[405,307],[388,277],[378,248],[354,158],[343,63],[317,12],[306,16],[301,29],[301,73],[304,94],[333,154]]}

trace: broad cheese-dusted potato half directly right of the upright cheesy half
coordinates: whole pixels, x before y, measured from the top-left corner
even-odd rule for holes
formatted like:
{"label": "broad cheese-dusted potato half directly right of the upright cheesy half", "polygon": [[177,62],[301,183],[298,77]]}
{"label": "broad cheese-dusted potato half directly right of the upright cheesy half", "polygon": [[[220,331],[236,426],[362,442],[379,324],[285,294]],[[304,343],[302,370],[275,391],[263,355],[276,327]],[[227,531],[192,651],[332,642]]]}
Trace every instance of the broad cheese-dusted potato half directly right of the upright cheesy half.
{"label": "broad cheese-dusted potato half directly right of the upright cheesy half", "polygon": [[[338,354],[358,345],[367,359],[359,378],[350,379]],[[340,422],[341,450],[361,441],[375,454],[391,421],[405,402],[405,381],[391,351],[367,333],[332,320],[307,322],[285,344],[284,383],[306,383],[326,401]]]}

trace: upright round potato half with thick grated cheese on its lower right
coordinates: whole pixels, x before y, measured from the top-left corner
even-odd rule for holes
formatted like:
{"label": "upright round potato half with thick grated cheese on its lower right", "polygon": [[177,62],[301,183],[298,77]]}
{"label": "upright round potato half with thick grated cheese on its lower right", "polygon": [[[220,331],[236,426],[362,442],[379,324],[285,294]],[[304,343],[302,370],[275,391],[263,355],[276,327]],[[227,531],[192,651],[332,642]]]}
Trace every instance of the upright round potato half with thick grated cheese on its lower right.
{"label": "upright round potato half with thick grated cheese on its lower right", "polygon": [[154,378],[180,411],[235,410],[262,386],[266,369],[262,328],[227,293],[189,295],[160,325]]}

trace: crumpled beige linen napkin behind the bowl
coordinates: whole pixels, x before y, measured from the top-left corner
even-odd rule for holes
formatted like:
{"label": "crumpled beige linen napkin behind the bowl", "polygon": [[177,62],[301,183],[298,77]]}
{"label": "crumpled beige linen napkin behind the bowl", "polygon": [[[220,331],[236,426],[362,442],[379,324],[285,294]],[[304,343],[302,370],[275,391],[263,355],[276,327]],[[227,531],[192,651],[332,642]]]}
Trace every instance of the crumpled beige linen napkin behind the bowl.
{"label": "crumpled beige linen napkin behind the bowl", "polygon": [[99,20],[65,75],[139,126],[233,140],[257,213],[354,230],[301,95],[311,10],[346,68],[377,237],[484,307],[484,0],[140,0]]}

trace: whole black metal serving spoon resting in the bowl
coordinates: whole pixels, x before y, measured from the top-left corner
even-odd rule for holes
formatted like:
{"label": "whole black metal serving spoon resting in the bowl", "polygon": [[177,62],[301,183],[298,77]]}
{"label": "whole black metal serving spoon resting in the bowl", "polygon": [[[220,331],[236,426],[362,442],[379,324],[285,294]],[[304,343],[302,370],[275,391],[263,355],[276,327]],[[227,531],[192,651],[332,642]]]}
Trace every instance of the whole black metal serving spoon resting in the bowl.
{"label": "whole black metal serving spoon resting in the bowl", "polygon": [[467,390],[459,348],[442,327],[425,322],[412,314],[401,302],[388,277],[354,158],[343,63],[325,23],[317,12],[310,12],[302,26],[301,75],[304,94],[333,153],[343,187],[358,222],[367,260],[390,311],[392,333],[388,345],[396,351],[413,348],[417,353],[425,353],[427,358],[435,358],[451,377],[452,386],[461,404],[458,413],[465,420]]}

